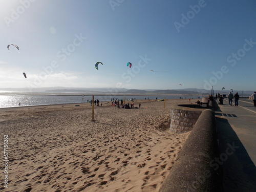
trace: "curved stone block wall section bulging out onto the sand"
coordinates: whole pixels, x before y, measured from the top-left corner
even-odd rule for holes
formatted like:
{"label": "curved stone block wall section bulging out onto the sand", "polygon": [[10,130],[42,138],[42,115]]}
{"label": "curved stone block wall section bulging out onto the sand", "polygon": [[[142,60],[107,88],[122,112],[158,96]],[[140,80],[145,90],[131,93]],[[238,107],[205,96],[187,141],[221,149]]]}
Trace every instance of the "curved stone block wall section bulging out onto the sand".
{"label": "curved stone block wall section bulging out onto the sand", "polygon": [[205,109],[197,104],[173,105],[170,109],[170,132],[186,133],[193,129],[197,119]]}

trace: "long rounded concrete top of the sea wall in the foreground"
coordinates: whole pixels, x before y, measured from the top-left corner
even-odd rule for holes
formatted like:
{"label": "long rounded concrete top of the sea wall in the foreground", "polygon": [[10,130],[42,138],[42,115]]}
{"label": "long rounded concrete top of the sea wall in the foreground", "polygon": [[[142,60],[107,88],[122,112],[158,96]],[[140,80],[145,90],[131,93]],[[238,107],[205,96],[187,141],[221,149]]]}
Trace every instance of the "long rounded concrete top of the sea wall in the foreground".
{"label": "long rounded concrete top of the sea wall in the foreground", "polygon": [[204,110],[159,192],[223,191],[214,111]]}

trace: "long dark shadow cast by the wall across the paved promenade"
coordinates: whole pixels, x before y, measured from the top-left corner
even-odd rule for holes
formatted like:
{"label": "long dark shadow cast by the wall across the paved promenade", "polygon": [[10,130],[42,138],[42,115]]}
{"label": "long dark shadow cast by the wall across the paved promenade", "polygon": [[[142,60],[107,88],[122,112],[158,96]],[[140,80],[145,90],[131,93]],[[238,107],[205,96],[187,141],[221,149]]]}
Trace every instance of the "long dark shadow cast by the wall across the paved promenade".
{"label": "long dark shadow cast by the wall across the paved promenade", "polygon": [[224,191],[256,191],[256,168],[244,145],[225,118],[216,117]]}

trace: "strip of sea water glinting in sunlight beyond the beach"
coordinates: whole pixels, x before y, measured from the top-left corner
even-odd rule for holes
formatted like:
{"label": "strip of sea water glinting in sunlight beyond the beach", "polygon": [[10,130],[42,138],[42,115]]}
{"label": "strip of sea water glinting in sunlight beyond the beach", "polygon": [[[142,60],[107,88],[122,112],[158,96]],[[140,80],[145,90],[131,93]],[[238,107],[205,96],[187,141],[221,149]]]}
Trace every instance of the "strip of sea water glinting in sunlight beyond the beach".
{"label": "strip of sea water glinting in sunlight beyond the beach", "polygon": [[[189,98],[198,98],[199,95],[96,95],[94,99],[99,99],[100,102],[112,101],[112,100],[126,100],[133,99],[189,99]],[[47,104],[67,104],[67,103],[86,103],[92,100],[92,95],[40,95],[40,93],[27,94],[27,93],[18,93],[18,92],[0,92],[0,108],[9,108],[14,106],[32,106],[32,105],[47,105]],[[104,103],[103,103],[104,104]]]}

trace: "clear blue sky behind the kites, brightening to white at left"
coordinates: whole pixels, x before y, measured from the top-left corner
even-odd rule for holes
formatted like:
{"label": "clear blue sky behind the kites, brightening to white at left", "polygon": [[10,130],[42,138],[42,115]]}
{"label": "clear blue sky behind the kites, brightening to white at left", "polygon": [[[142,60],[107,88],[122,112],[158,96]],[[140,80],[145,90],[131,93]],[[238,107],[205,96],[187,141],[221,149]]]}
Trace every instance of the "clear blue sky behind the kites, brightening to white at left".
{"label": "clear blue sky behind the kites, brightening to white at left", "polygon": [[1,0],[0,18],[0,88],[256,90],[253,0]]}

